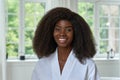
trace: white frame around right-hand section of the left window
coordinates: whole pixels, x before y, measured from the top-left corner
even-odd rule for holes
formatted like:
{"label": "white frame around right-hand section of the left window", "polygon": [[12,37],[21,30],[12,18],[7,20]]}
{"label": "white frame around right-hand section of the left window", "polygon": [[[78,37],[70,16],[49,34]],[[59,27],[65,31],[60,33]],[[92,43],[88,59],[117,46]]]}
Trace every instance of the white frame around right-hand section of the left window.
{"label": "white frame around right-hand section of the left window", "polygon": [[[25,35],[21,34],[24,33],[25,31],[25,3],[41,3],[44,2],[46,3],[47,7],[47,0],[20,0],[20,13],[19,13],[19,21],[20,21],[20,26],[19,26],[19,48],[18,48],[18,55],[24,55],[26,59],[34,59],[36,58],[35,53],[33,55],[27,56],[25,55]],[[45,9],[46,10],[46,9]],[[47,10],[46,10],[47,11]],[[31,43],[32,44],[32,43]]]}

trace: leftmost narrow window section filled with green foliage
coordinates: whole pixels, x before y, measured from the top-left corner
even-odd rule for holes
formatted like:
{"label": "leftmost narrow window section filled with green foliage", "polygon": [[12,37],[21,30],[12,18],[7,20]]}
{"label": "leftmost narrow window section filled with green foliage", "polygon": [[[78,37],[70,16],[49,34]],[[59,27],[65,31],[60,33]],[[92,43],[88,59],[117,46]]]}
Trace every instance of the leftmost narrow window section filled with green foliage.
{"label": "leftmost narrow window section filled with green foliage", "polygon": [[18,56],[18,8],[18,0],[6,1],[6,53],[12,58]]}

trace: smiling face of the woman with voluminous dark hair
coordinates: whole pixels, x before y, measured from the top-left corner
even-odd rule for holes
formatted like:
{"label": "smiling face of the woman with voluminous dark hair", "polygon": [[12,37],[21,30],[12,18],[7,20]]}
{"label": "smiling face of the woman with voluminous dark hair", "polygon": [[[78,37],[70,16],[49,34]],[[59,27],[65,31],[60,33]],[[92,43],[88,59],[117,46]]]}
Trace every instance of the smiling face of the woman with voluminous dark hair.
{"label": "smiling face of the woman with voluminous dark hair", "polygon": [[53,36],[58,47],[71,47],[73,40],[72,24],[67,20],[58,21],[55,25]]}

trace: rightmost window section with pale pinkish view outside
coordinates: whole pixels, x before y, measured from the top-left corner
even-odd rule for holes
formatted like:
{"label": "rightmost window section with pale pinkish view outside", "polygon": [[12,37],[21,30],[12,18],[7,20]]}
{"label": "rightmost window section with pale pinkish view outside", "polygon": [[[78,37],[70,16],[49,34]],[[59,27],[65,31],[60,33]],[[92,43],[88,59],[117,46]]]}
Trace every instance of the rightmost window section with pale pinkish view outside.
{"label": "rightmost window section with pale pinkish view outside", "polygon": [[99,4],[99,52],[120,52],[120,4]]}

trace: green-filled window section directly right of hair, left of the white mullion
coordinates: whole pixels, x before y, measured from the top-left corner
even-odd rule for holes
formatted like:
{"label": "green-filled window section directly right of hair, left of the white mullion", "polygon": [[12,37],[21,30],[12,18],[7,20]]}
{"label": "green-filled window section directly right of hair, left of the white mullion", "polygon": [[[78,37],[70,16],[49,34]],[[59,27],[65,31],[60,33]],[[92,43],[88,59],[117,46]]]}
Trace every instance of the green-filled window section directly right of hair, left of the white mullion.
{"label": "green-filled window section directly right of hair, left of the white mullion", "polygon": [[78,2],[78,14],[81,15],[94,31],[94,4],[89,2]]}

